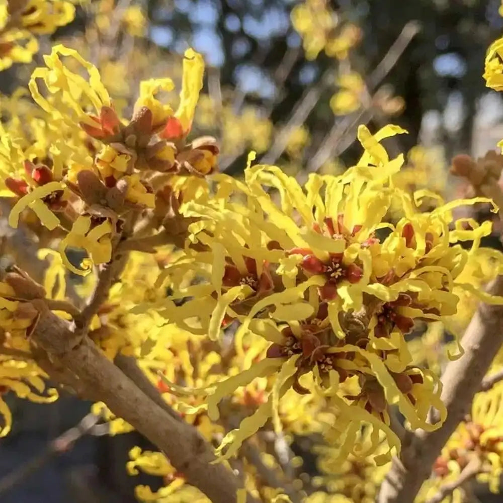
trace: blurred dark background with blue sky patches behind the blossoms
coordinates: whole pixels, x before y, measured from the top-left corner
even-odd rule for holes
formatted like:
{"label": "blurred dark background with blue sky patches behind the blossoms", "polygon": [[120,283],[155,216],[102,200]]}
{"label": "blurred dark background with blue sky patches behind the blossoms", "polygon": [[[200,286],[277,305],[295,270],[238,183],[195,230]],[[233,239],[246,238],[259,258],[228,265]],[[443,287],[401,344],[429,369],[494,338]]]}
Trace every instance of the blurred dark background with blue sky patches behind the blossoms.
{"label": "blurred dark background with blue sky patches behind the blossoms", "polygon": [[[342,172],[361,154],[358,124],[374,132],[391,122],[409,133],[386,143],[391,154],[406,153],[400,183],[449,197],[463,191],[447,175],[452,155],[483,155],[503,138],[501,98],[482,79],[486,48],[503,28],[500,7],[500,0],[84,2],[73,23],[40,40],[32,64],[2,72],[0,113],[9,117],[15,101],[5,97],[22,96],[56,42],[100,68],[124,116],[141,80],[180,81],[181,55],[191,46],[207,63],[193,129],[219,140],[221,171],[239,177],[253,149],[301,180]],[[40,278],[30,241],[1,225],[21,267]],[[131,447],[148,448],[136,434],[97,431],[55,452],[51,441],[77,425],[90,403],[63,393],[52,405],[10,405],[0,503],[127,503],[136,484],[155,488],[153,478],[126,473]]]}

